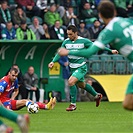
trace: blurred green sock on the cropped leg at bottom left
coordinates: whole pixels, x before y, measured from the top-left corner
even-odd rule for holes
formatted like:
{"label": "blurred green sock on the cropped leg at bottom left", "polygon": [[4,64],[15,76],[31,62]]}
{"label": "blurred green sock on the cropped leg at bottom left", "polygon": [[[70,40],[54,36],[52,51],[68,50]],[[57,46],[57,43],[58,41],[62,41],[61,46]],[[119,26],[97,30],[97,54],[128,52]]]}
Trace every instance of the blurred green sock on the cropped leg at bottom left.
{"label": "blurred green sock on the cropped leg at bottom left", "polygon": [[7,118],[11,121],[17,122],[18,114],[16,114],[13,111],[10,111],[10,110],[6,109],[5,107],[3,107],[2,105],[0,105],[0,116]]}

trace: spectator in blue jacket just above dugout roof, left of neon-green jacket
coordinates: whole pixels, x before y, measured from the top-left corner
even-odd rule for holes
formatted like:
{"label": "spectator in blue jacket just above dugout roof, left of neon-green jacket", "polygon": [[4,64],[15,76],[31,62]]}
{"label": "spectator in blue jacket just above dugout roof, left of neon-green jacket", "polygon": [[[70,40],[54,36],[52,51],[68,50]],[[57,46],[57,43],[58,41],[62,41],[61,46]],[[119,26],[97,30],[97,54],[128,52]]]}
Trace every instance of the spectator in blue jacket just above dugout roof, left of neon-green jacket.
{"label": "spectator in blue jacket just above dugout roof, left of neon-green jacket", "polygon": [[2,30],[3,40],[13,40],[16,39],[16,30],[12,25],[12,22],[7,22],[6,27]]}

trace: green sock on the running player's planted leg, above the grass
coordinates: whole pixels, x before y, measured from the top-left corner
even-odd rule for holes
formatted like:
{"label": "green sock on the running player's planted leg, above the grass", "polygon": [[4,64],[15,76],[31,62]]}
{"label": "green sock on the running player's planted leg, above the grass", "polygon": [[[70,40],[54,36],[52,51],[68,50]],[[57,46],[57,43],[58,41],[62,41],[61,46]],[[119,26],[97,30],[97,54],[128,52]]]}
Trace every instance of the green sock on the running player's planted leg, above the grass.
{"label": "green sock on the running player's planted leg, above the grass", "polygon": [[76,103],[77,99],[77,87],[76,85],[70,86],[71,103]]}

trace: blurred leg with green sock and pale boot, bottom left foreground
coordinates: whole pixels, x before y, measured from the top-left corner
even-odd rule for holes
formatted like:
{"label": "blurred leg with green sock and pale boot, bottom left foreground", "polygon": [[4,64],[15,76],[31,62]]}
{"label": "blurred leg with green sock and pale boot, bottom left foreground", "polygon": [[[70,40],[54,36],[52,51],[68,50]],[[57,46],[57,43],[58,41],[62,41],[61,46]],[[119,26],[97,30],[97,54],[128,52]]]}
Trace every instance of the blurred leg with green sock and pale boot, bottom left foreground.
{"label": "blurred leg with green sock and pale boot, bottom left foreground", "polygon": [[0,104],[0,116],[17,123],[22,133],[28,133],[29,116],[27,114],[18,115]]}

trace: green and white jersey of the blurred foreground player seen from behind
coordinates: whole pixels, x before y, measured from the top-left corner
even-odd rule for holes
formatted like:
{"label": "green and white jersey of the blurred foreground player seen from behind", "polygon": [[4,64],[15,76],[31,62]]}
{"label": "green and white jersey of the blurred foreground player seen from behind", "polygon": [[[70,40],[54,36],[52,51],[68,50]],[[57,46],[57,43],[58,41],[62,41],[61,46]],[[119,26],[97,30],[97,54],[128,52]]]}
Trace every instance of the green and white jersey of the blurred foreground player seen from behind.
{"label": "green and white jersey of the blurred foreground player seen from behind", "polygon": [[120,54],[133,61],[133,20],[115,17],[101,31],[94,45],[100,49],[110,43]]}

